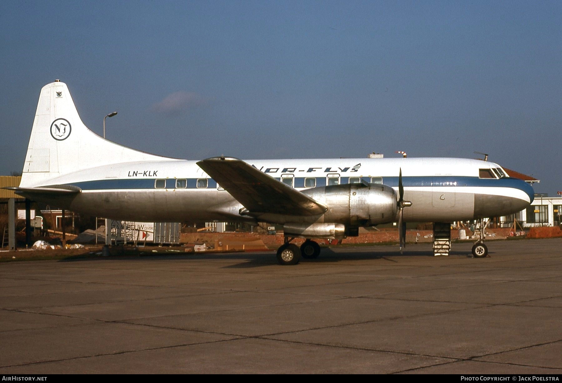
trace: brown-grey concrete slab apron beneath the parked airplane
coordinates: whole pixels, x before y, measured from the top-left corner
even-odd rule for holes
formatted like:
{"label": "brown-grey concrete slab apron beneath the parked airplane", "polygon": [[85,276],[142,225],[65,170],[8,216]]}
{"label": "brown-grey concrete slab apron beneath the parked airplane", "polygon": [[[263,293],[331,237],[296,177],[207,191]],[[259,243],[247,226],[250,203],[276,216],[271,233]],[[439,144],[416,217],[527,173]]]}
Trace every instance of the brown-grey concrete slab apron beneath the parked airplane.
{"label": "brown-grey concrete slab apron beneath the parked airplane", "polygon": [[562,238],[0,264],[0,373],[562,373]]}

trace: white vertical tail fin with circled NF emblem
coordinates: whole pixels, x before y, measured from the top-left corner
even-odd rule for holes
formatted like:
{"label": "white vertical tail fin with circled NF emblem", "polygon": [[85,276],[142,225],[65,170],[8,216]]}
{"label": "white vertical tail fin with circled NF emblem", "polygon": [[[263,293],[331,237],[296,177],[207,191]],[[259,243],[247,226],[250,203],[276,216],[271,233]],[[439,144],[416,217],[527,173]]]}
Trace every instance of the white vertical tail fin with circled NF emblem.
{"label": "white vertical tail fin with circled NF emblem", "polygon": [[102,165],[166,159],[92,132],[80,119],[66,84],[56,80],[41,89],[20,186],[40,186],[60,175]]}

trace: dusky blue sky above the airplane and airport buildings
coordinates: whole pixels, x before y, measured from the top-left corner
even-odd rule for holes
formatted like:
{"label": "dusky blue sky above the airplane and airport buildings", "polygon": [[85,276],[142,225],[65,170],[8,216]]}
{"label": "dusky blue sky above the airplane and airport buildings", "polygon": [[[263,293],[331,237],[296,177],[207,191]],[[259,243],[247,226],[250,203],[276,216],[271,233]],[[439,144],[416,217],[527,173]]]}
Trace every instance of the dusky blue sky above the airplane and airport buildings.
{"label": "dusky blue sky above the airplane and airport buildings", "polygon": [[39,90],[84,123],[202,159],[476,157],[562,190],[560,1],[0,2],[0,174]]}

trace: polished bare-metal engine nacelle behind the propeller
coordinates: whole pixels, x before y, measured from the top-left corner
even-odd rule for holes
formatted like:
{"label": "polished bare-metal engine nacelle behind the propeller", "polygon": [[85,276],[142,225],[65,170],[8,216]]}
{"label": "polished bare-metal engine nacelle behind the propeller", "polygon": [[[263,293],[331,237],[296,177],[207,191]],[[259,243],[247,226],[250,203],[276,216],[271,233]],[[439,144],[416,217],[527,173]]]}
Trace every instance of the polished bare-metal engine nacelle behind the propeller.
{"label": "polished bare-metal engine nacelle behind the propeller", "polygon": [[327,206],[321,222],[342,223],[350,227],[394,222],[397,214],[396,191],[378,183],[350,183],[303,190]]}

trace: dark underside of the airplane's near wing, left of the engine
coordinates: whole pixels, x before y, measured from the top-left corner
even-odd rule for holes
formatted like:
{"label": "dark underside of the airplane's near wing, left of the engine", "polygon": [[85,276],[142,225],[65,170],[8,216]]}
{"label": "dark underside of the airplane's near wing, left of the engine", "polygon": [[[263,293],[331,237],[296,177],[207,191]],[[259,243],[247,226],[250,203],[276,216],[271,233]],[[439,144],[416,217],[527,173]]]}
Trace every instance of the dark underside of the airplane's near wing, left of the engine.
{"label": "dark underside of the airplane's near wing, left of the engine", "polygon": [[309,196],[237,158],[212,157],[197,165],[250,213],[316,215],[327,210]]}

